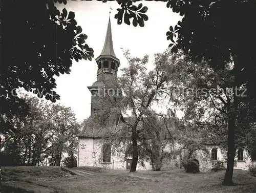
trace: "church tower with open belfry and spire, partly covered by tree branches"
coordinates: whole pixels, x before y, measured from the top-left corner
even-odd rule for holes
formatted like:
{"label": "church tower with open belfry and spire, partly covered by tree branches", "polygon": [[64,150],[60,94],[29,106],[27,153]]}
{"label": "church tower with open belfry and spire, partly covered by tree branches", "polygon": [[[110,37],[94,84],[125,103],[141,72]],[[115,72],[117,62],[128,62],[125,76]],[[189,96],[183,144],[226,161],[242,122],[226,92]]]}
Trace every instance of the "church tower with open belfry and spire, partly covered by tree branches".
{"label": "church tower with open belfry and spire, partly covered by tree branches", "polygon": [[91,115],[96,111],[97,108],[97,96],[95,92],[99,92],[99,89],[104,88],[104,83],[102,81],[103,76],[114,76],[117,78],[118,67],[120,66],[120,61],[116,57],[113,48],[113,39],[111,31],[111,21],[109,17],[108,28],[106,29],[106,36],[103,49],[101,54],[95,59],[97,63],[97,81],[94,82],[91,87],[87,87],[92,93],[91,98]]}

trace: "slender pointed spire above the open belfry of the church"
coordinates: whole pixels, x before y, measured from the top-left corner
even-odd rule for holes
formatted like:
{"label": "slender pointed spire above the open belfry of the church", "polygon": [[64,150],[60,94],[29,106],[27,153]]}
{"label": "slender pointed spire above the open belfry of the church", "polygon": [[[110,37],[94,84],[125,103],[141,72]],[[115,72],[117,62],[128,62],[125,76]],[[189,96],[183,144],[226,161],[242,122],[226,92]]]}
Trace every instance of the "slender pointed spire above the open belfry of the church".
{"label": "slender pointed spire above the open belfry of the church", "polygon": [[104,46],[103,46],[100,56],[101,55],[111,55],[111,56],[116,57],[116,54],[115,54],[114,48],[113,48],[110,18],[109,18],[108,29],[106,29],[105,43],[104,43]]}

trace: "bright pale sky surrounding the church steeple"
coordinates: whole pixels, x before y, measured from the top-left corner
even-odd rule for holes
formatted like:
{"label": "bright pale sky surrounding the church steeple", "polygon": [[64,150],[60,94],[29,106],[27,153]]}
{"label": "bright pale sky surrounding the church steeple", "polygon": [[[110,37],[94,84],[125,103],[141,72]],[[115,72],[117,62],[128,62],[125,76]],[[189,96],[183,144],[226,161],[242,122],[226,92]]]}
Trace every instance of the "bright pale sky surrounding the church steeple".
{"label": "bright pale sky surrounding the church steeple", "polygon": [[[96,81],[97,65],[95,58],[99,56],[105,39],[109,20],[110,7],[113,45],[116,56],[120,59],[120,68],[127,67],[127,62],[120,48],[129,49],[132,56],[163,52],[169,45],[166,32],[169,26],[176,25],[181,16],[173,13],[164,2],[139,2],[148,7],[148,20],[143,28],[117,25],[114,15],[119,5],[117,2],[102,3],[98,1],[68,1],[67,5],[56,5],[59,9],[75,12],[75,19],[82,32],[88,35],[87,44],[94,49],[92,61],[73,61],[71,73],[56,77],[56,92],[60,95],[59,103],[71,106],[78,121],[90,116],[91,93],[88,86]],[[152,57],[151,57],[152,59]],[[119,71],[120,72],[120,71]]]}

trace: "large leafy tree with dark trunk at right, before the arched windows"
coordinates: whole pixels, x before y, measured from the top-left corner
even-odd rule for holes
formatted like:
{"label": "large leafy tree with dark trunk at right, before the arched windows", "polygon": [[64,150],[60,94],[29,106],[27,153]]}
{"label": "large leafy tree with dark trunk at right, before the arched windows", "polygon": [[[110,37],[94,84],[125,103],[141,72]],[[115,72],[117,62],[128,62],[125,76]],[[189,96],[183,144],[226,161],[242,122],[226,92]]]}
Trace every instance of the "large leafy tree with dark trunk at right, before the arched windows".
{"label": "large leafy tree with dark trunk at right, before the arched windows", "polygon": [[[244,139],[246,133],[251,133],[249,123],[254,122],[253,116],[249,116],[252,113],[243,100],[243,88],[233,87],[235,78],[232,63],[228,63],[222,70],[215,71],[205,60],[192,65],[187,55],[181,51],[178,55],[181,76],[174,81],[180,84],[170,90],[170,93],[175,97],[177,105],[182,106],[187,121],[198,126],[206,126],[202,127],[203,130],[210,129],[209,134],[216,143],[223,145],[227,142],[228,163],[225,179],[229,179],[230,175],[232,176],[236,149],[239,146],[247,146]],[[236,108],[234,103],[237,105]],[[237,116],[234,117],[234,114]]]}

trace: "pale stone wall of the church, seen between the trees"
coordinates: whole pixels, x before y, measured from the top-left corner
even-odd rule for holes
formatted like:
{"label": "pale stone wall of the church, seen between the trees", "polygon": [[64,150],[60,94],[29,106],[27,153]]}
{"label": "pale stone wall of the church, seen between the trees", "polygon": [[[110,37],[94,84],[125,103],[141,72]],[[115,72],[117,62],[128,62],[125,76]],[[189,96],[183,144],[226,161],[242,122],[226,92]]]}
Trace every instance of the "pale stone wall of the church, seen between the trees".
{"label": "pale stone wall of the church, seen between the trees", "polygon": [[[78,143],[78,166],[96,166],[105,167],[109,169],[126,169],[126,158],[124,158],[123,153],[112,153],[111,162],[103,162],[103,146],[104,142],[102,139],[93,138],[79,138]],[[211,149],[217,148],[217,160],[225,161],[226,152],[222,151],[221,148],[214,145],[208,146],[208,153],[197,151],[193,154],[193,158],[197,159],[200,164],[200,171],[210,171],[217,160],[211,160]],[[168,151],[168,149],[165,149]],[[94,153],[93,153],[94,152]],[[236,153],[237,155],[237,153]],[[172,159],[163,159],[161,170],[170,170],[181,167],[181,155],[173,156]],[[130,158],[132,159],[132,158]],[[235,157],[236,164],[234,169],[248,170],[248,166],[251,163],[250,156],[246,151],[244,151],[244,161],[237,161],[237,156]],[[226,166],[226,164],[225,164]],[[151,163],[144,162],[144,167],[138,162],[138,170],[152,170]]]}

